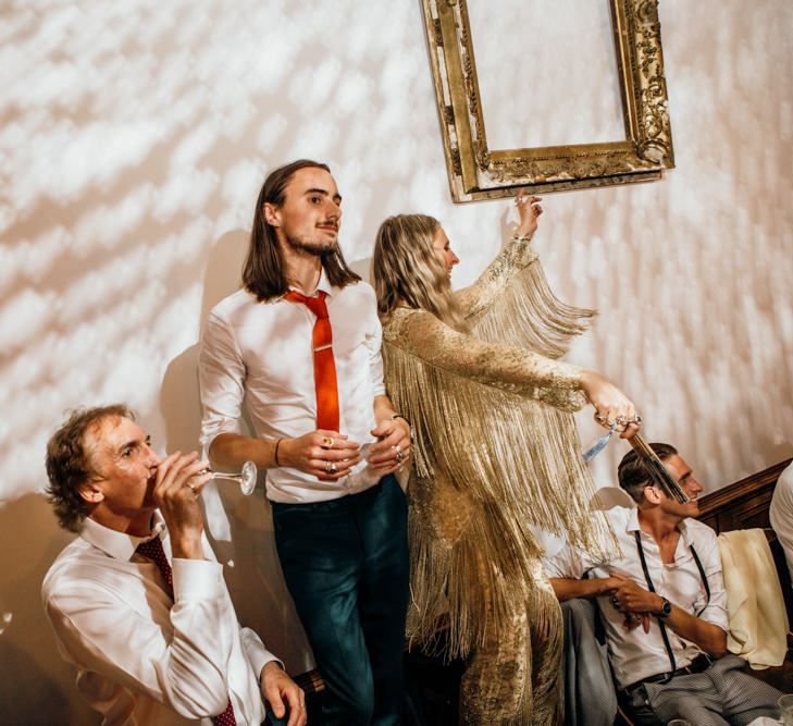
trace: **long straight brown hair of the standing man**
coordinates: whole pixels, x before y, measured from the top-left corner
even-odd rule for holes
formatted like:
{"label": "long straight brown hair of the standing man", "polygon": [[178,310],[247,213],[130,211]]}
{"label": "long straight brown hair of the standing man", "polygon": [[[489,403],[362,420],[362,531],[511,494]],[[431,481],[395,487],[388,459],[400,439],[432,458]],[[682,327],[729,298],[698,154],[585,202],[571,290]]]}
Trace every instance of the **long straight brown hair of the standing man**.
{"label": "long straight brown hair of the standing man", "polygon": [[[243,284],[248,292],[256,295],[260,303],[280,297],[289,290],[275,230],[264,219],[264,205],[283,206],[289,180],[296,171],[309,167],[331,172],[327,164],[310,159],[298,159],[271,171],[259,192],[259,199],[257,199],[253,212],[250,245],[243,267]],[[360,276],[347,267],[340,247],[337,246],[333,250],[322,253],[320,257],[327,281],[334,287],[345,287],[360,281]]]}

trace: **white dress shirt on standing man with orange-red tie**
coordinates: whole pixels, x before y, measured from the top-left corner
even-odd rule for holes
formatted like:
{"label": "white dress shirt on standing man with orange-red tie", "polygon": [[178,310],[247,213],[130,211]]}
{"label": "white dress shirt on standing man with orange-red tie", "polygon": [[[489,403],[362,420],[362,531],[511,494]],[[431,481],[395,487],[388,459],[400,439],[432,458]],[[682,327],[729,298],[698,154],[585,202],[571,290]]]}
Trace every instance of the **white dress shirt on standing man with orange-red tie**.
{"label": "white dress shirt on standing man with orange-red tie", "polygon": [[[324,271],[320,290],[327,293],[333,330],[340,433],[361,444],[365,457],[365,446],[374,442],[374,397],[385,393],[374,291],[364,282],[332,287]],[[218,434],[240,432],[243,401],[261,439],[293,439],[317,429],[315,321],[306,305],[283,297],[259,303],[246,290],[212,309],[198,365],[205,452]],[[282,467],[268,471],[268,496],[274,502],[322,502],[363,491],[379,479],[367,469],[365,458],[338,481]]]}

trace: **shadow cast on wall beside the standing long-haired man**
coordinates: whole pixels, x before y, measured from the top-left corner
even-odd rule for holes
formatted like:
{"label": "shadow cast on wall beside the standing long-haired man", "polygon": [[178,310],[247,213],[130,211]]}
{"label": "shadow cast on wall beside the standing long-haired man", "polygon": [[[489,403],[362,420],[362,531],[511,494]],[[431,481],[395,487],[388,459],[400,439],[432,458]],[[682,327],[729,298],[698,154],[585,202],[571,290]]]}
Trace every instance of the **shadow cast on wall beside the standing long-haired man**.
{"label": "shadow cast on wall beside the standing long-haired man", "polygon": [[[199,329],[203,329],[210,310],[239,288],[248,237],[248,232],[235,230],[212,246],[203,279]],[[199,445],[198,352],[197,342],[165,370],[160,408],[168,452],[193,451]],[[231,482],[220,481],[216,488],[210,484],[205,490],[205,512],[212,546],[225,565],[225,580],[239,622],[256,630],[287,670],[296,675],[313,667],[313,660],[284,585],[263,484],[261,476],[252,496],[243,496]]]}

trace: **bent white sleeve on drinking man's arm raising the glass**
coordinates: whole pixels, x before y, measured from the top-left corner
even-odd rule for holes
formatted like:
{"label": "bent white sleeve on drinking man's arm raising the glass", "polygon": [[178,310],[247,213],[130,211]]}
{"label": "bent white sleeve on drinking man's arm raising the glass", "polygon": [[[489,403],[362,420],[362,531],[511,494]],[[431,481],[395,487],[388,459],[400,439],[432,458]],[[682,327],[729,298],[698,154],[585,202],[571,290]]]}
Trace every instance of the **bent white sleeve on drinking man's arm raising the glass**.
{"label": "bent white sleeve on drinking man's arm raising the glass", "polygon": [[[120,593],[90,580],[50,593],[47,613],[65,651],[87,670],[186,718],[222,713],[236,627],[222,566],[174,559],[173,581],[169,623],[141,616]],[[152,603],[152,610],[161,606]]]}

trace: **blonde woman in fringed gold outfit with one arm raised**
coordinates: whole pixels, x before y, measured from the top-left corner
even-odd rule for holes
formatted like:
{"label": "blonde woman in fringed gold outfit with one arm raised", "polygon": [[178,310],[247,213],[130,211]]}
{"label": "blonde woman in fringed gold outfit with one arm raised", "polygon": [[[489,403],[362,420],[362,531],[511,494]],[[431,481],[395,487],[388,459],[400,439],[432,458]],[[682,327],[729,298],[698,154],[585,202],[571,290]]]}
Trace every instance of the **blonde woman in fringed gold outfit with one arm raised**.
{"label": "blonde woman in fringed gold outfit with one arm raised", "polygon": [[607,379],[557,360],[593,312],[547,286],[529,244],[538,201],[517,197],[516,235],[466,290],[451,292],[459,260],[431,217],[387,219],[373,257],[386,386],[414,436],[408,635],[466,659],[464,724],[559,722],[561,614],[529,526],[597,550],[572,413],[591,403],[623,436],[639,426]]}

